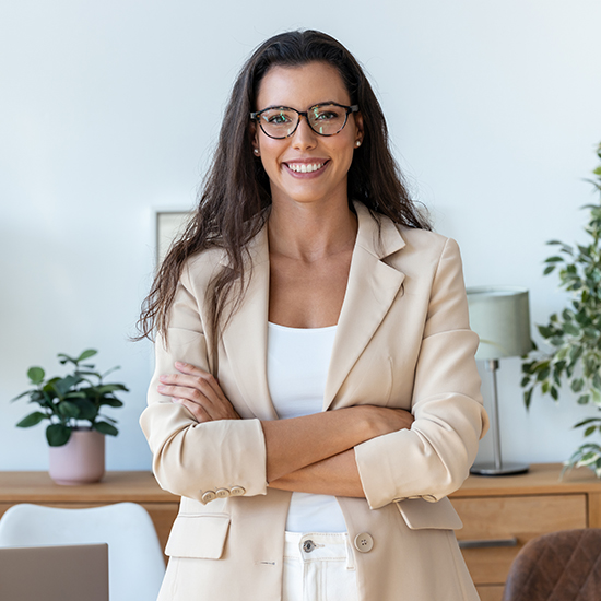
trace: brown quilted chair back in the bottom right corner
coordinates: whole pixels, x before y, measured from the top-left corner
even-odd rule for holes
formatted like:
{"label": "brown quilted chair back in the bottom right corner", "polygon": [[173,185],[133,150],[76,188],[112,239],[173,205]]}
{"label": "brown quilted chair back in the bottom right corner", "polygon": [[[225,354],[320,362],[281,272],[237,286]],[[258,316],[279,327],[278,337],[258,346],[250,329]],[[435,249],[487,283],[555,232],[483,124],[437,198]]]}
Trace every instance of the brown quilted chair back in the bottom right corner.
{"label": "brown quilted chair back in the bottom right corner", "polygon": [[503,601],[599,601],[601,528],[561,530],[529,541],[518,553]]}

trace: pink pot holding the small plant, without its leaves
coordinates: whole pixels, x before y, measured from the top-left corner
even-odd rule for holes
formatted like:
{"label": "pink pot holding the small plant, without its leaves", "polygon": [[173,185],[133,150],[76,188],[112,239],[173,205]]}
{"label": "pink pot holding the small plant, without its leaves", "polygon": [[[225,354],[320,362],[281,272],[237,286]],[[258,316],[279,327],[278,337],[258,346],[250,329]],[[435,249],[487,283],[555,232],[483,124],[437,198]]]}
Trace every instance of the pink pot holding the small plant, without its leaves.
{"label": "pink pot holding the small plant, without its leaves", "polygon": [[67,445],[49,447],[50,478],[74,486],[99,482],[105,471],[105,436],[90,428],[71,432]]}

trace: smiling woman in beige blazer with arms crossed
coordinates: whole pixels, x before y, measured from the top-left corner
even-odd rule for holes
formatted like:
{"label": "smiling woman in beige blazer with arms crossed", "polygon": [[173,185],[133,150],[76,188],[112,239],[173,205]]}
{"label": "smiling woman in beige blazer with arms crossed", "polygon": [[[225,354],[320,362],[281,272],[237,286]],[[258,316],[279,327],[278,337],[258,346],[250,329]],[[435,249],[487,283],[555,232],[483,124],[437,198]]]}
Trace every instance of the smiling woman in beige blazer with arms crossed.
{"label": "smiling woman in beige blazer with arms crossed", "polygon": [[181,495],[161,600],[478,599],[446,498],[486,428],[459,251],[337,40],[243,68],[141,323],[141,425]]}

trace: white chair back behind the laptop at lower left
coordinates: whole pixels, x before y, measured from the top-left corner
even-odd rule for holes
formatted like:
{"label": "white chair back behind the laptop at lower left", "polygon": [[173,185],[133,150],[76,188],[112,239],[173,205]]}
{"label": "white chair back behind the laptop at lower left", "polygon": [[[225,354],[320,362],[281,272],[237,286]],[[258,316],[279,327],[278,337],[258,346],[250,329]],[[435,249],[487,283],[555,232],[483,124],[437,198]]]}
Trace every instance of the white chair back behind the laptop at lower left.
{"label": "white chair back behind the laptop at lower left", "polygon": [[[0,546],[108,544],[110,601],[155,601],[165,561],[148,511],[134,503],[86,509],[14,505],[0,519]],[[66,574],[67,575],[67,574]]]}

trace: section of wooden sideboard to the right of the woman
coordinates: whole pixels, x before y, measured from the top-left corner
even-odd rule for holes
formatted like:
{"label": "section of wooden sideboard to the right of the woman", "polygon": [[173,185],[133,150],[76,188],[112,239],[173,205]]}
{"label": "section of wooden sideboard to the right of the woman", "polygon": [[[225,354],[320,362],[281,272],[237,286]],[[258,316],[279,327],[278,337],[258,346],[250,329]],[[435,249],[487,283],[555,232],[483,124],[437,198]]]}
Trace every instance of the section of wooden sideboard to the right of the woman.
{"label": "section of wooden sideboard to the right of the woman", "polygon": [[601,481],[586,468],[559,481],[561,471],[540,463],[520,475],[471,475],[450,495],[463,521],[457,539],[482,601],[500,601],[511,562],[529,540],[601,528]]}

